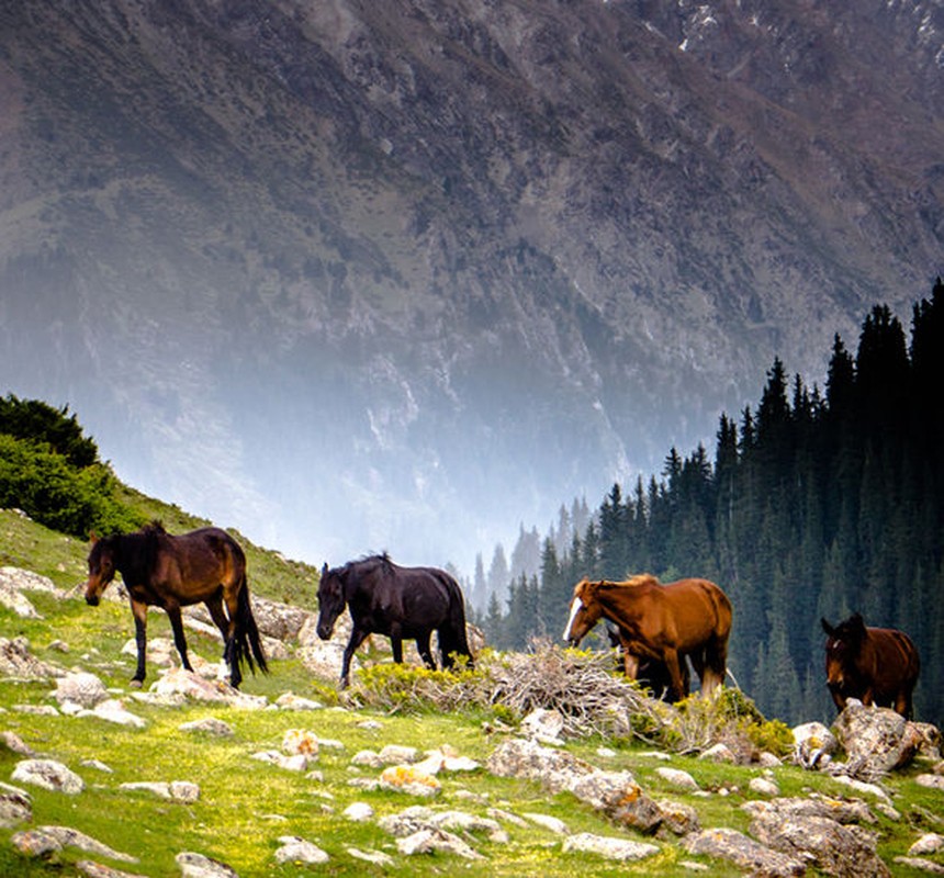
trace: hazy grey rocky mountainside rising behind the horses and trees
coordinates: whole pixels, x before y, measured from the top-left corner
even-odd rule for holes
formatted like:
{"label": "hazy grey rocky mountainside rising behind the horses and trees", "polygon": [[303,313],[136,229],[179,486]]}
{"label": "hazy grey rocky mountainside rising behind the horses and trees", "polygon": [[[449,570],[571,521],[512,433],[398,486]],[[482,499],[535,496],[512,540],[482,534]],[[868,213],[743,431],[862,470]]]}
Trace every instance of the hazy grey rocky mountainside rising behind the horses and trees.
{"label": "hazy grey rocky mountainside rising behind the horses and trees", "polygon": [[0,18],[4,383],[316,560],[468,564],[942,270],[939,2]]}

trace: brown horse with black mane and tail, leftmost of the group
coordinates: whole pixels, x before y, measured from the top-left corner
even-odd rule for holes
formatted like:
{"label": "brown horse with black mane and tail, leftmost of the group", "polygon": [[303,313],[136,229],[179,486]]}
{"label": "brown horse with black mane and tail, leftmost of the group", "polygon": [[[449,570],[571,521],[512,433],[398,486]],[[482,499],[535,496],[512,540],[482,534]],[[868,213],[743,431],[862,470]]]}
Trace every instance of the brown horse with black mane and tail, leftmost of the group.
{"label": "brown horse with black mane and tail, leftmost of the group", "polygon": [[[132,686],[144,683],[147,645],[147,608],[161,607],[173,629],[173,643],[188,671],[187,640],[180,608],[202,601],[223,634],[223,658],[229,665],[229,683],[238,688],[245,662],[269,666],[249,604],[246,555],[239,543],[220,528],[200,528],[172,537],[155,521],[135,533],[98,538],[91,534],[86,601],[98,606],[109,583],[121,573],[131,598],[137,642],[137,671]],[[226,605],[226,611],[223,605]],[[255,662],[254,662],[255,658]]]}

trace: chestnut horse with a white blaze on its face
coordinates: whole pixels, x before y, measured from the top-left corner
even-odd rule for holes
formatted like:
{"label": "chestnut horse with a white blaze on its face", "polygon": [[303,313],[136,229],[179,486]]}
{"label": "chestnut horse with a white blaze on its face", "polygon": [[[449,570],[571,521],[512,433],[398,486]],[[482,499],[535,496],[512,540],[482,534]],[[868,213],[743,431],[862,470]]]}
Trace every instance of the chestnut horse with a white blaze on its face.
{"label": "chestnut horse with a white blaze on its face", "polygon": [[626,582],[582,579],[574,586],[564,640],[575,645],[604,617],[619,630],[626,675],[636,679],[641,658],[663,662],[671,680],[670,696],[688,694],[682,674],[688,655],[709,695],[724,680],[731,601],[715,583],[681,579],[660,584],[651,574]]}

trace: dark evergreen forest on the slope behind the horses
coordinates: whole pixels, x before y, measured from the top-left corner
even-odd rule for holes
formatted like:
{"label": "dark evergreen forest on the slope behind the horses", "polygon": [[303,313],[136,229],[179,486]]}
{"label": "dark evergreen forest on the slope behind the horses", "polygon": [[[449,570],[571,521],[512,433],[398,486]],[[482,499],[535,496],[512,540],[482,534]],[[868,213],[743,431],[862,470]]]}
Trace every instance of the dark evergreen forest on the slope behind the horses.
{"label": "dark evergreen forest on the slope behind the horses", "polygon": [[713,459],[673,448],[660,477],[615,484],[569,545],[547,538],[540,570],[516,575],[504,600],[493,590],[476,620],[497,648],[524,649],[560,639],[584,576],[713,579],[734,607],[737,684],[766,716],[799,722],[834,714],[820,618],[858,611],[915,642],[915,714],[941,724],[944,284],[914,305],[910,344],[884,305],[855,356],[836,336],[824,395],[778,358],[766,378],[756,409],[721,416]]}

